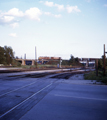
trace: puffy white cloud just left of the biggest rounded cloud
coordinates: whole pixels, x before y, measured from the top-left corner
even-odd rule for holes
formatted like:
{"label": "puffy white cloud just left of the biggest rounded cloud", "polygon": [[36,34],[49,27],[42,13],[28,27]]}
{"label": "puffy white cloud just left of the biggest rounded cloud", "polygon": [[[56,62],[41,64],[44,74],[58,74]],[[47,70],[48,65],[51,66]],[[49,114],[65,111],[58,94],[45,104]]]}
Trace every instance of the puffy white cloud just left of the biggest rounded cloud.
{"label": "puffy white cloud just left of the biggest rounded cloud", "polygon": [[4,15],[16,16],[16,17],[23,17],[24,16],[23,12],[19,11],[18,8],[12,8],[8,12],[4,13]]}

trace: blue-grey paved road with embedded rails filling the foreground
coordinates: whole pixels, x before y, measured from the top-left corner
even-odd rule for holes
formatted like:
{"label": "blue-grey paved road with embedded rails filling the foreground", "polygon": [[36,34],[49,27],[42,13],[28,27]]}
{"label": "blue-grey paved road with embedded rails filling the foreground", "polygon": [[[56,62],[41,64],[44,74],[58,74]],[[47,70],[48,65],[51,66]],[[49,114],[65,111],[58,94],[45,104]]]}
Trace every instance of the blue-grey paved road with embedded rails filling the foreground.
{"label": "blue-grey paved road with embedded rails filling the foreground", "polygon": [[0,75],[0,120],[107,120],[107,86],[77,72]]}

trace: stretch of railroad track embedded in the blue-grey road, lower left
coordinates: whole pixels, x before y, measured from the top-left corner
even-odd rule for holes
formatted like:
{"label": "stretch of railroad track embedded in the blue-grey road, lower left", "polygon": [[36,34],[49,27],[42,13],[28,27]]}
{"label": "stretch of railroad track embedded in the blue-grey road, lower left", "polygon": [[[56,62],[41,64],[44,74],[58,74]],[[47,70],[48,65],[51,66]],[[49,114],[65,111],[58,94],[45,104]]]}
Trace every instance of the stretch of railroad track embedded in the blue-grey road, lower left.
{"label": "stretch of railroad track embedded in the blue-grey road, lower left", "polygon": [[[34,75],[32,79],[35,79]],[[50,80],[38,78],[35,82],[31,82],[30,84],[1,94],[0,120],[18,120],[23,114],[36,105],[49,91],[51,91],[58,84],[57,81],[58,79]],[[22,113],[19,112],[19,109],[21,111],[25,107],[26,109]],[[15,115],[13,115],[14,112]]]}

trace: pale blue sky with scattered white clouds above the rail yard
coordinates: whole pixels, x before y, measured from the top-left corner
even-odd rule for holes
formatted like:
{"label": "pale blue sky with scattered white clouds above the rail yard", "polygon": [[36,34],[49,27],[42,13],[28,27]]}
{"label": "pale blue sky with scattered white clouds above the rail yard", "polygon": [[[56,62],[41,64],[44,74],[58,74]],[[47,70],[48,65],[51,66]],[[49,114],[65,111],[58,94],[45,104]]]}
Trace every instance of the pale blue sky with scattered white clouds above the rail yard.
{"label": "pale blue sky with scattered white clouds above the rail yard", "polygon": [[19,58],[100,58],[104,44],[107,0],[0,0],[0,46]]}

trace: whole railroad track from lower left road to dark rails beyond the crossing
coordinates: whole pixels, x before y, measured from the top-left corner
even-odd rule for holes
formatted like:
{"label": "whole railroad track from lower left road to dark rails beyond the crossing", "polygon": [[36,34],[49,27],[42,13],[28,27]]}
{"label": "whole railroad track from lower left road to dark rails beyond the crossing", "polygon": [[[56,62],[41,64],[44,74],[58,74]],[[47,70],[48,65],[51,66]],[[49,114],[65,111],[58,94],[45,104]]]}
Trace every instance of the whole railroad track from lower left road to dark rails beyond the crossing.
{"label": "whole railroad track from lower left road to dark rails beyond the crossing", "polygon": [[[13,82],[14,80],[18,81],[18,79],[26,80],[26,78],[29,80],[33,79],[34,81],[24,86],[0,94],[0,119],[20,119],[21,116],[23,116],[34,105],[36,105],[49,91],[54,89],[54,87],[58,85],[63,79],[68,79],[70,76],[77,73],[80,74],[83,72],[52,72],[7,76],[7,80],[10,81],[12,79],[11,82]],[[20,80],[18,82],[20,82]]]}

